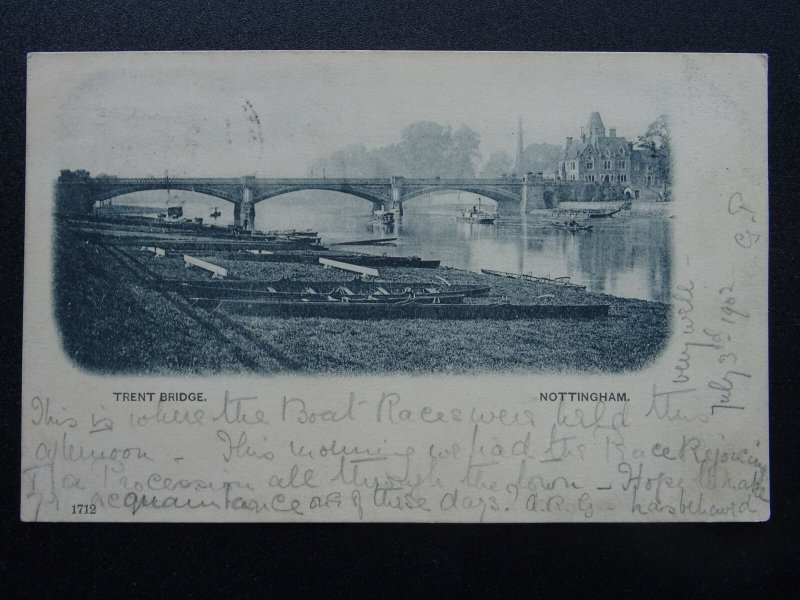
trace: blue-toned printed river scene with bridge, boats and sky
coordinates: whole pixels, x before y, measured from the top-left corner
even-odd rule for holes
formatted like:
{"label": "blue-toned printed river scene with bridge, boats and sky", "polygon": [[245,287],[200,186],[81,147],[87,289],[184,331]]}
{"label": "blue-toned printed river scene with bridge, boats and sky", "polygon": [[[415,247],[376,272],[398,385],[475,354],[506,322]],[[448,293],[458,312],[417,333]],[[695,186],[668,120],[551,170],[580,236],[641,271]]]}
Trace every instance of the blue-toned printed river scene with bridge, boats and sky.
{"label": "blue-toned printed river scene with bridge, boats and sky", "polygon": [[211,63],[99,69],[59,107],[55,314],[76,365],[625,372],[664,349],[658,72],[632,93],[548,60]]}

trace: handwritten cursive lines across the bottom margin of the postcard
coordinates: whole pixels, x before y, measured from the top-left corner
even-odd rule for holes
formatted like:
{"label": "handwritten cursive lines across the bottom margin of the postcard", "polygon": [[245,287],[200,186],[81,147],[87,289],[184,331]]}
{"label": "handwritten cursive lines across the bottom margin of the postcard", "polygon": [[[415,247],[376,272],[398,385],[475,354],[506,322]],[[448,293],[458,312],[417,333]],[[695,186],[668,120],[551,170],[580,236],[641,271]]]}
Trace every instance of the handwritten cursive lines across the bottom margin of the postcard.
{"label": "handwritten cursive lines across the bottom margin of the postcard", "polygon": [[[104,403],[89,412],[36,396],[27,400],[23,513],[479,522],[763,514],[761,441],[703,429],[707,415],[679,406],[691,394],[537,390],[501,407],[392,391],[225,391],[202,404]],[[663,426],[643,435],[637,423],[653,418]]]}

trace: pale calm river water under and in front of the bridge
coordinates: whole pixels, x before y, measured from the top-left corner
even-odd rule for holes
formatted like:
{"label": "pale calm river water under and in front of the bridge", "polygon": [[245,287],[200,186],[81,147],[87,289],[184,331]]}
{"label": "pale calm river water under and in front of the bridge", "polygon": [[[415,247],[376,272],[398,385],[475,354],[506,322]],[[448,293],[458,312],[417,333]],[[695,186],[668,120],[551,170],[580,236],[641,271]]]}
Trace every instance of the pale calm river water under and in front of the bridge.
{"label": "pale calm river water under and in front of the bridge", "polygon": [[[232,205],[188,192],[145,192],[118,204],[182,204],[185,217],[205,223],[233,222]],[[410,201],[393,229],[373,225],[371,204],[336,192],[296,192],[256,205],[260,230],[314,229],[324,244],[372,237],[397,237],[395,247],[350,246],[351,250],[392,256],[441,259],[470,271],[495,269],[537,276],[569,276],[589,290],[626,298],[668,302],[672,221],[664,205],[634,205],[610,219],[591,219],[592,231],[570,232],[549,225],[550,211],[520,216],[501,211],[494,225],[458,222],[455,203],[472,205],[471,194],[439,194]],[[485,208],[494,203],[486,200]],[[222,214],[209,215],[214,207]],[[562,217],[563,220],[563,217]]]}

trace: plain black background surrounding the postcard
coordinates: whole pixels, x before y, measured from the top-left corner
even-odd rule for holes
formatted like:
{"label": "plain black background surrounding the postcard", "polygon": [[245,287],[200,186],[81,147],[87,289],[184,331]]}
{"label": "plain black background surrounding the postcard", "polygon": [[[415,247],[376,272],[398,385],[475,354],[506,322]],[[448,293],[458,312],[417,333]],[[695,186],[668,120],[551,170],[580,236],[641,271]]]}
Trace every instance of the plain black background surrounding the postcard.
{"label": "plain black background surrounding the postcard", "polygon": [[[792,342],[800,12],[791,2],[0,1],[0,594],[741,597],[800,589]],[[770,427],[765,524],[155,525],[19,522],[25,54],[417,49],[769,54]],[[665,90],[665,93],[669,93]]]}

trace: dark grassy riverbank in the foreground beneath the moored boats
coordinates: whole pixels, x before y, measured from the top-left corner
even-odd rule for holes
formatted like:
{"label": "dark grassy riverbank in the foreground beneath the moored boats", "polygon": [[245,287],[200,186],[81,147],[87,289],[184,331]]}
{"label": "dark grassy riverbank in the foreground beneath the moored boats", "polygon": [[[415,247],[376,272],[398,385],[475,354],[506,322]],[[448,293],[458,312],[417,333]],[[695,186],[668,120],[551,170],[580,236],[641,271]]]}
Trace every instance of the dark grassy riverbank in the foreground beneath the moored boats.
{"label": "dark grassy riverbank in the foreground beneath the moored boats", "polygon": [[[180,373],[622,372],[655,359],[669,338],[669,306],[537,285],[450,268],[381,269],[393,281],[491,285],[488,300],[609,304],[597,319],[519,321],[340,320],[243,317],[205,311],[148,285],[152,278],[207,279],[181,254],[87,243],[60,223],[55,312],[64,351],[90,371]],[[209,260],[242,279],[352,278],[317,265]],[[541,296],[546,296],[542,298]]]}

